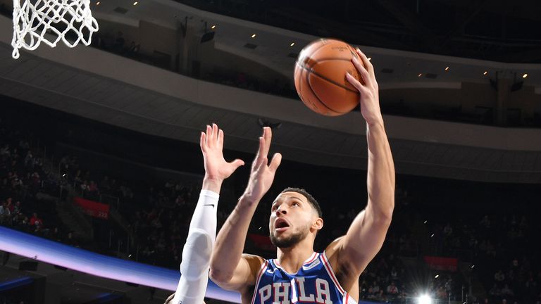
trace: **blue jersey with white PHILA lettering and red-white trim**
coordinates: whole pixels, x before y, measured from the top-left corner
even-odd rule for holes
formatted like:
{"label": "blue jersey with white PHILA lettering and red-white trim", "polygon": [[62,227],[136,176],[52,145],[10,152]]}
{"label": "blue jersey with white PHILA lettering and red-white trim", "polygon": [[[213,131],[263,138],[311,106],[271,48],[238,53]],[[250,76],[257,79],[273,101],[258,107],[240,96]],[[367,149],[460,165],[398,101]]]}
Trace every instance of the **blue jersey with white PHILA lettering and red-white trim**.
{"label": "blue jersey with white PHILA lettering and red-white trim", "polygon": [[296,274],[287,273],[278,260],[261,265],[251,304],[356,304],[342,289],[325,253],[313,253]]}

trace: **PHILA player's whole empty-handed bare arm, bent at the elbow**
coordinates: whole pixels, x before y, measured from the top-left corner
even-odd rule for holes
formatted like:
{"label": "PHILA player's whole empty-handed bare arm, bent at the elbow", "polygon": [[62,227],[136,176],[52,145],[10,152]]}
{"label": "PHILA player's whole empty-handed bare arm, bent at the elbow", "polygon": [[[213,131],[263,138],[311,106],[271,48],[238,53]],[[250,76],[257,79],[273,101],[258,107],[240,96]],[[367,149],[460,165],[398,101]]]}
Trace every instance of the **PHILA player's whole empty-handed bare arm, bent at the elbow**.
{"label": "PHILA player's whole empty-handed bare arm, bent at the elbow", "polygon": [[280,153],[276,153],[268,164],[271,137],[270,128],[263,128],[263,136],[259,137],[259,150],[251,165],[248,186],[216,236],[211,258],[211,279],[224,289],[244,291],[254,285],[256,274],[263,263],[263,258],[243,255],[242,250],[251,218],[259,201],[270,189],[282,160]]}

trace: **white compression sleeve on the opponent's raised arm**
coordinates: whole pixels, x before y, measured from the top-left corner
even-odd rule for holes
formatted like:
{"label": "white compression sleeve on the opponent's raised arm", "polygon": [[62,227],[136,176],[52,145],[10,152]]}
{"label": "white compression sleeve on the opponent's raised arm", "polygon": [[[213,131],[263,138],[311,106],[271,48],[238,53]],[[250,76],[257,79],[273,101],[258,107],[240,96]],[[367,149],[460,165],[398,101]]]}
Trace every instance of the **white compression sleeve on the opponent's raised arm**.
{"label": "white compression sleeve on the opponent's raised arm", "polygon": [[209,281],[209,265],[216,239],[216,192],[201,190],[199,201],[189,223],[189,232],[182,251],[180,280],[173,304],[202,304]]}

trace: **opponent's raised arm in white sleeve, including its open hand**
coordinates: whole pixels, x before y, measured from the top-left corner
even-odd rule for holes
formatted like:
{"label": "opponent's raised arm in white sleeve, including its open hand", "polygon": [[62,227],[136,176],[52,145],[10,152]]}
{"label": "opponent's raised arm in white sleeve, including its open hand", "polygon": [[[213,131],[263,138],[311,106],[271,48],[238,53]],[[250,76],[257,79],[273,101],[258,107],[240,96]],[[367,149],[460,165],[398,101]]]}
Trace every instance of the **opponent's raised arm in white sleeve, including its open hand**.
{"label": "opponent's raised arm in white sleeve, including its open hand", "polygon": [[217,125],[206,126],[206,132],[201,132],[199,145],[203,153],[205,177],[182,251],[177,291],[167,298],[166,304],[204,303],[211,251],[216,238],[220,188],[224,179],[244,165],[239,159],[230,163],[225,161],[222,153],[223,131]]}

